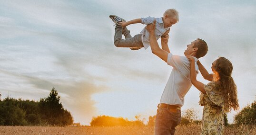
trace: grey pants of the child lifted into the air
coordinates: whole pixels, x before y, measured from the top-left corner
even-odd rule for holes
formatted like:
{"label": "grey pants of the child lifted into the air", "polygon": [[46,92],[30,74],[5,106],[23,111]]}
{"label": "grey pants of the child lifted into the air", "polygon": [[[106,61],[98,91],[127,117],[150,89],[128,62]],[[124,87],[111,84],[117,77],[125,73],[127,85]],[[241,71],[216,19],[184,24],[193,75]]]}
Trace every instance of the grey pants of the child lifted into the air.
{"label": "grey pants of the child lifted into the air", "polygon": [[[122,39],[122,34],[124,34],[125,39]],[[135,50],[144,47],[141,34],[132,37],[130,31],[126,27],[122,28],[122,26],[116,26],[115,28],[114,43],[117,47],[130,47],[131,49],[135,48]]]}

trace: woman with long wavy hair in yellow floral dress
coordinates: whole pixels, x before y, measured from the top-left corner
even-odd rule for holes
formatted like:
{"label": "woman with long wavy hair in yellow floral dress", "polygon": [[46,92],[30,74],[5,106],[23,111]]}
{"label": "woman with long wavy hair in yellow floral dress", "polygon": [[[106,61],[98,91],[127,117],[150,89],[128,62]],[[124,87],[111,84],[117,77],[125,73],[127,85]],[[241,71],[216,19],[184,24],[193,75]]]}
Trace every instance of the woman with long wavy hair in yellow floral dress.
{"label": "woman with long wavy hair in yellow floral dress", "polygon": [[201,135],[222,135],[224,129],[224,112],[231,108],[239,109],[236,84],[231,77],[232,63],[224,57],[219,57],[212,63],[213,74],[209,74],[198,61],[197,65],[203,77],[209,82],[207,85],[197,81],[195,60],[190,60],[190,77],[192,84],[200,90],[199,104],[204,106]]}

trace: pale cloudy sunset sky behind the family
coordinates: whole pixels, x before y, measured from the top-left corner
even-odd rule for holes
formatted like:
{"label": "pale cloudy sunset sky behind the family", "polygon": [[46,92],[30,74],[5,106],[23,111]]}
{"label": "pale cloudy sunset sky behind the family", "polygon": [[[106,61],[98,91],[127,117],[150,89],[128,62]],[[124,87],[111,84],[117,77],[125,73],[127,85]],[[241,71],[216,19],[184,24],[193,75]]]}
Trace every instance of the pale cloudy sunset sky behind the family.
{"label": "pale cloudy sunset sky behind the family", "polygon": [[[183,52],[197,38],[211,63],[223,56],[233,64],[240,110],[256,99],[256,0],[0,0],[0,93],[39,101],[54,87],[74,122],[89,125],[108,115],[134,120],[156,115],[172,67],[151,53],[114,45],[117,15],[128,20],[162,17],[177,9],[168,46]],[[145,27],[129,25],[132,36]],[[160,45],[160,40],[158,40]],[[207,84],[200,74],[197,80]],[[191,87],[182,110],[202,117],[199,90]],[[236,111],[228,113],[233,122]]]}

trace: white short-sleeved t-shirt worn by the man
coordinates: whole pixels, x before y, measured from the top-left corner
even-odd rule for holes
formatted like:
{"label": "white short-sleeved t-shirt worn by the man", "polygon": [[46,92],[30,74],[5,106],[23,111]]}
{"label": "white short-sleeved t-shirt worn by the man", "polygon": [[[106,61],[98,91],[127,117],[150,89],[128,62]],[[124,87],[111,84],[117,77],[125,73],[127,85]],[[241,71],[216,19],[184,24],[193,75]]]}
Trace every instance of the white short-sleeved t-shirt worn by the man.
{"label": "white short-sleeved t-shirt worn by the man", "polygon": [[[198,74],[198,59],[196,57],[194,58],[196,73]],[[182,107],[184,105],[184,97],[192,86],[190,81],[190,61],[185,56],[169,53],[167,64],[172,66],[173,69],[163,91],[160,103]]]}

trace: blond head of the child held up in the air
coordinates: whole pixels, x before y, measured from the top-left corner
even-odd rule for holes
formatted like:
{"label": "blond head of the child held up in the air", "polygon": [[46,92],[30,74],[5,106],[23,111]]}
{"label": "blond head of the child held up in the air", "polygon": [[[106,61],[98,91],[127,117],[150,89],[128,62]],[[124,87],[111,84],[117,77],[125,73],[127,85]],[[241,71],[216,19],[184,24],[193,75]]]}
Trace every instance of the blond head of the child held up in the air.
{"label": "blond head of the child held up in the air", "polygon": [[171,27],[178,22],[178,12],[175,9],[167,9],[163,16],[164,27]]}

